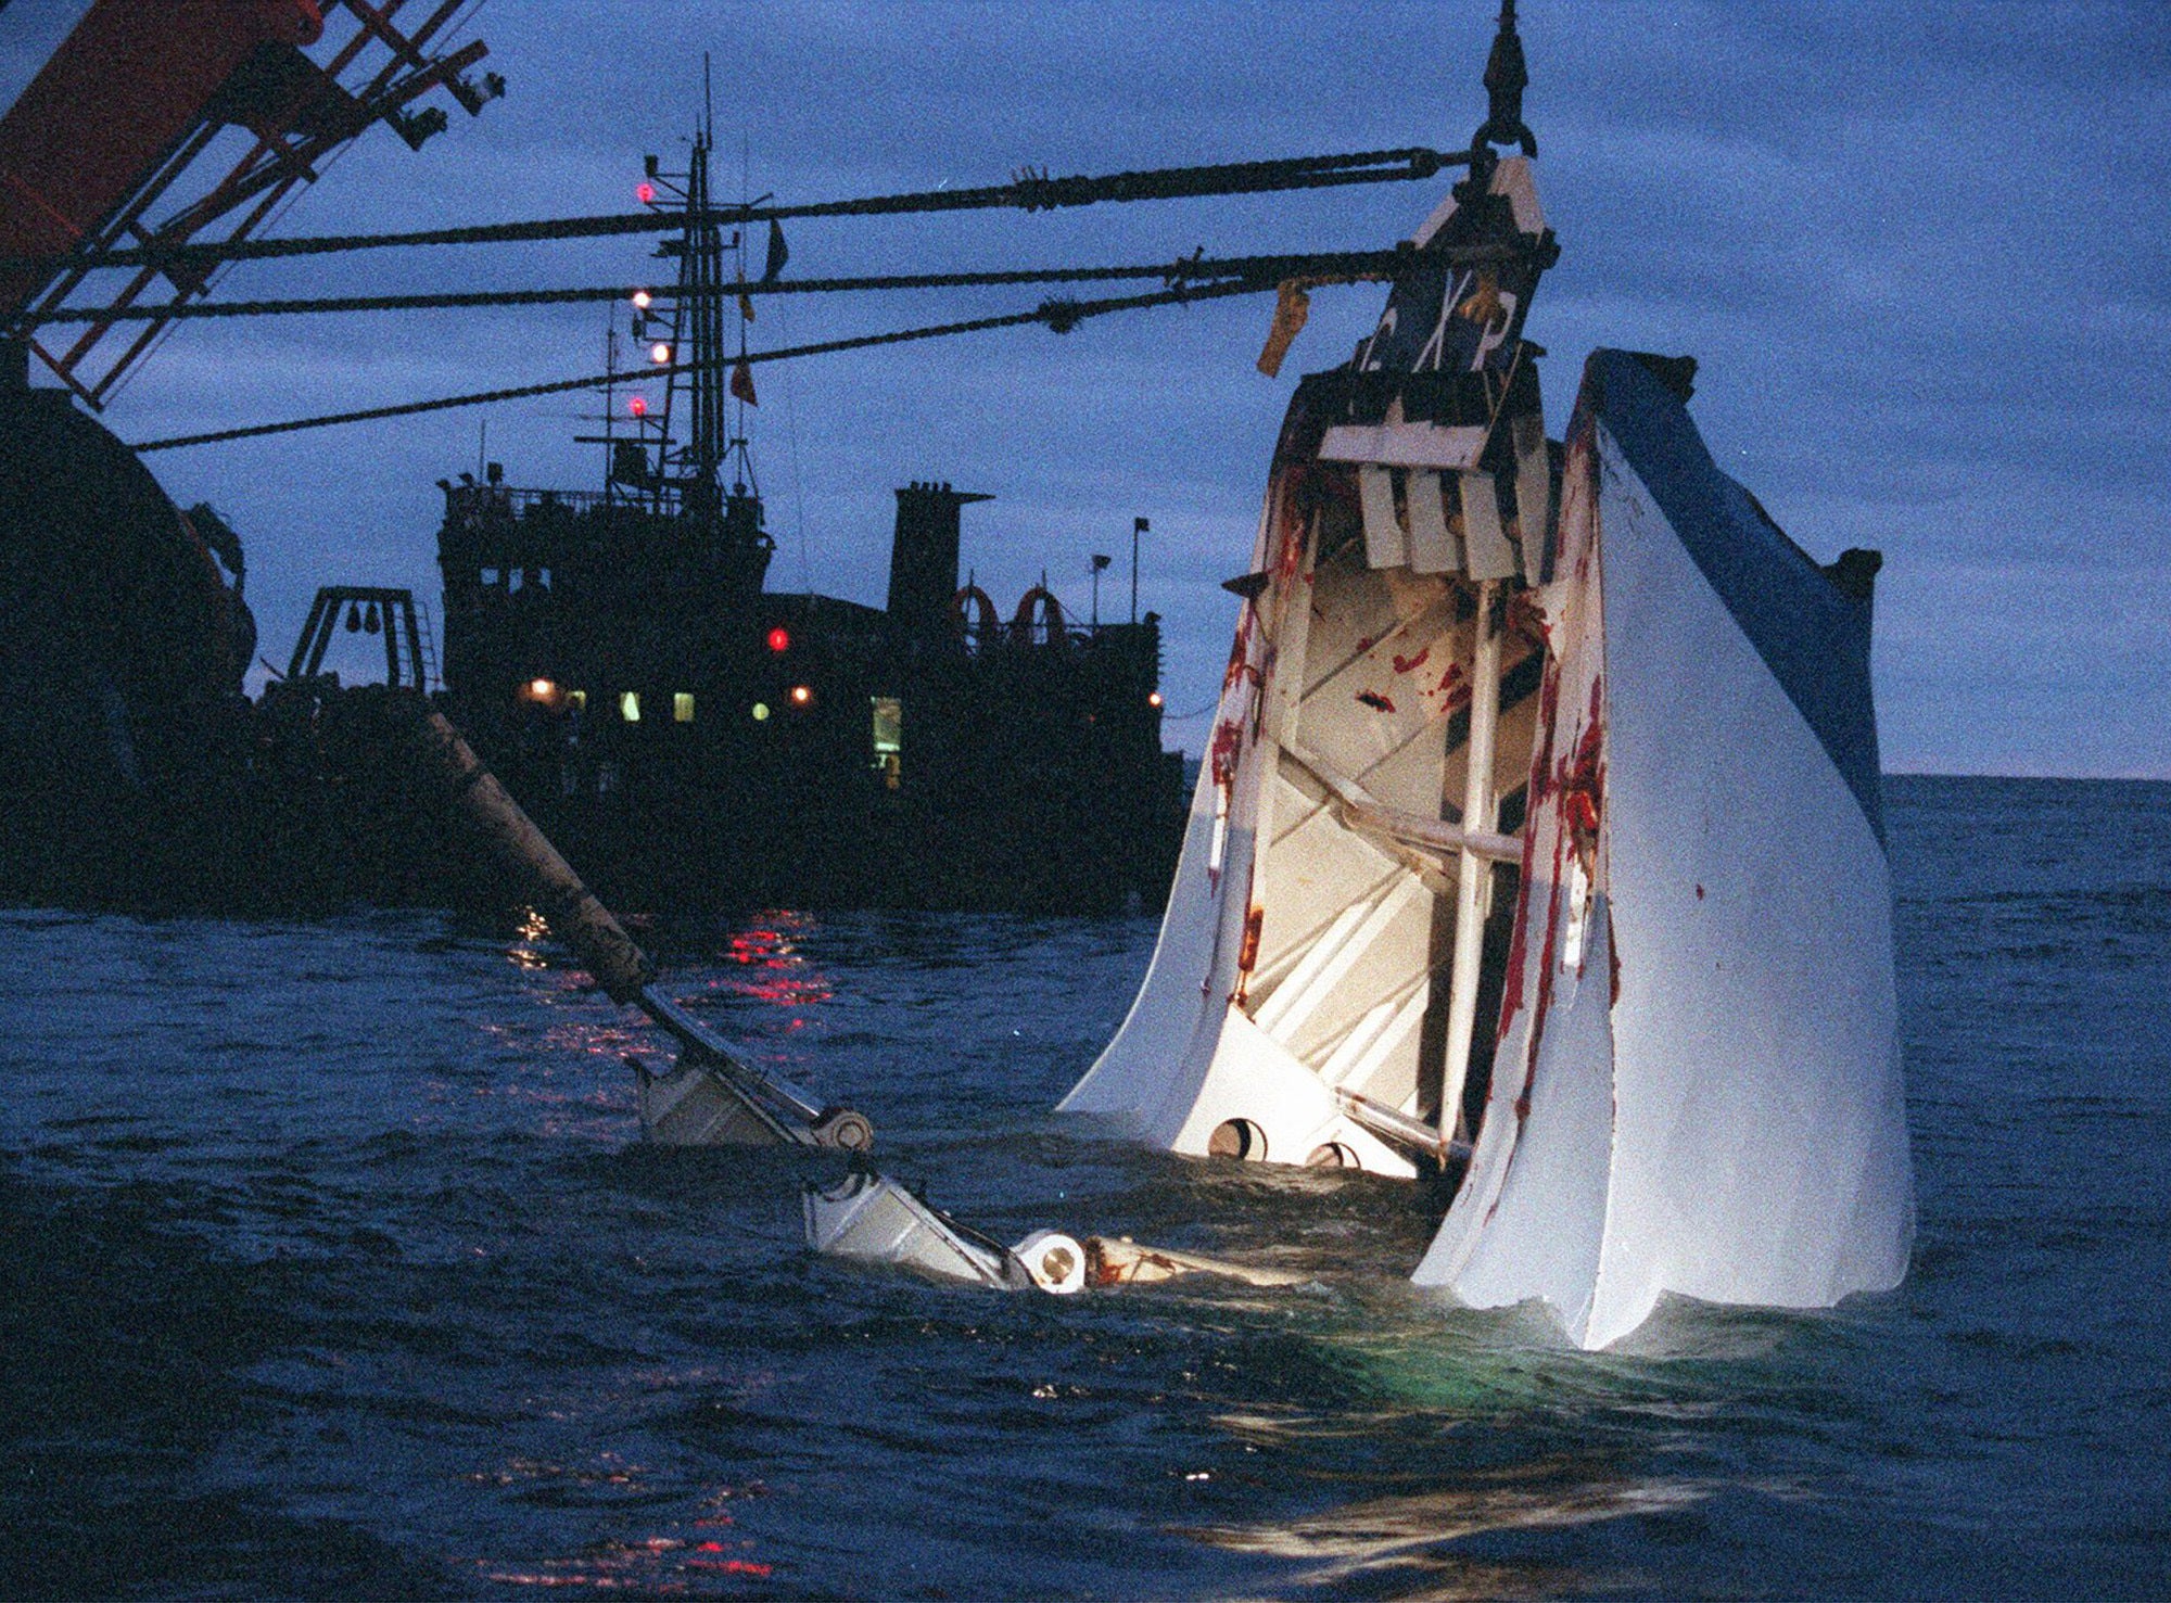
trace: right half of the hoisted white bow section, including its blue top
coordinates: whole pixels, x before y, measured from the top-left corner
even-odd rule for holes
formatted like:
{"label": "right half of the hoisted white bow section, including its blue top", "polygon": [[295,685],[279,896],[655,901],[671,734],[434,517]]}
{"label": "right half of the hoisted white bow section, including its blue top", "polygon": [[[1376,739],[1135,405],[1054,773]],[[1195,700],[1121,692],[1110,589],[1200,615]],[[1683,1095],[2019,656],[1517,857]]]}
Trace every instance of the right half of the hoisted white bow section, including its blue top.
{"label": "right half of the hoisted white bow section, including its blue top", "polygon": [[1541,1297],[1585,1347],[1663,1292],[1891,1288],[1913,1171],[1867,597],[1622,352],[1591,358],[1565,482],[1509,1006],[1415,1279]]}

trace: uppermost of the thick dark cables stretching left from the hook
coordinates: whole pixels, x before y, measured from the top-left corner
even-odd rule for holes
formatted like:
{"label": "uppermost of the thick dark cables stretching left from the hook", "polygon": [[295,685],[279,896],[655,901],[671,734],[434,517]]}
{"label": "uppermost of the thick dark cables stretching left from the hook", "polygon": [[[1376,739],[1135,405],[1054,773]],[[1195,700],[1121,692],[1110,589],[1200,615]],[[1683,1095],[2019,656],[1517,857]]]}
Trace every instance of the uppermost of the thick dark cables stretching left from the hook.
{"label": "uppermost of the thick dark cables stretching left from the hook", "polygon": [[[931,211],[1057,211],[1133,200],[1201,200],[1207,195],[1255,195],[1281,189],[1329,189],[1340,185],[1376,185],[1422,180],[1442,167],[1470,165],[1468,150],[1359,150],[1342,156],[1290,156],[1283,161],[1237,161],[1211,167],[1146,167],[1099,178],[1049,178],[1046,172],[1020,172],[1007,185],[981,189],[921,189],[899,195],[864,195],[860,200],[816,200],[803,204],[710,206],[693,222],[756,224],[788,217],[894,217]],[[504,241],[601,239],[612,235],[653,235],[682,228],[688,213],[608,213],[599,217],[551,217],[519,224],[469,224],[460,228],[417,228],[395,235],[308,235],[295,239],[234,239],[187,245],[130,245],[96,256],[7,256],[0,269],[22,267],[165,267],[169,263],[252,261],[265,256],[321,256],[345,250],[384,250],[393,245],[488,245]]]}

